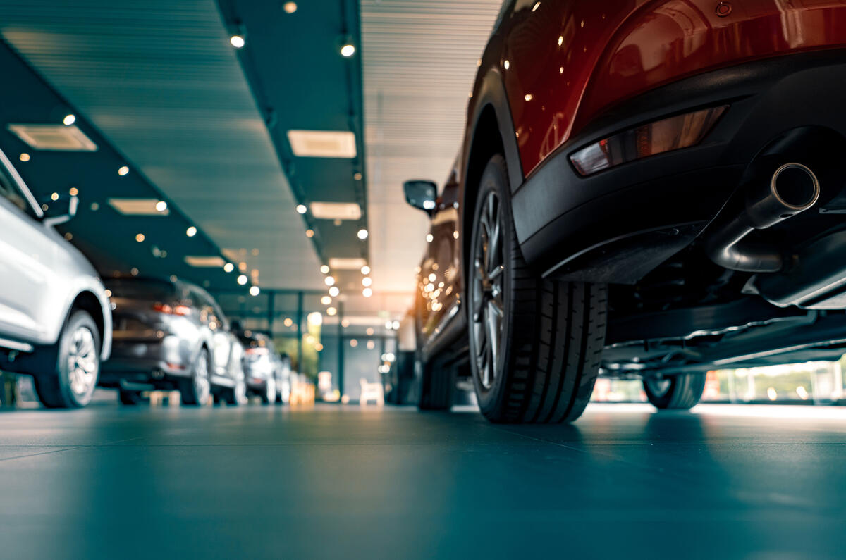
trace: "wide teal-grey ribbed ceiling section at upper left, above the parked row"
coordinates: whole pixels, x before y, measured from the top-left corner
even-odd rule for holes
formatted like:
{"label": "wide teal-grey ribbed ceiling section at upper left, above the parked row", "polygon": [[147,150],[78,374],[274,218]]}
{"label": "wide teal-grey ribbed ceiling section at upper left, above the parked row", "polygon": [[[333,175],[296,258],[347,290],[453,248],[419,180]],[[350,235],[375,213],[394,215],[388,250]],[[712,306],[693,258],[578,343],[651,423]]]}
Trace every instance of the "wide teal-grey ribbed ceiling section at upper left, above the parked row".
{"label": "wide teal-grey ribbed ceiling section at upper left, above the parked row", "polygon": [[321,284],[214,0],[3,1],[0,34],[262,285]]}

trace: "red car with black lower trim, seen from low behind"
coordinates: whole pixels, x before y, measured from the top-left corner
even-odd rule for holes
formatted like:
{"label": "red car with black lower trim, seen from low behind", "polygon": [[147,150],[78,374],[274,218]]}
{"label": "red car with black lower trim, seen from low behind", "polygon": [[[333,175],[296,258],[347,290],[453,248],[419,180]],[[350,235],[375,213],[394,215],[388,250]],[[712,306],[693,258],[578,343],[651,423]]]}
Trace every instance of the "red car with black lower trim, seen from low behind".
{"label": "red car with black lower trim, seen from low behind", "polygon": [[431,215],[423,409],[574,420],[597,375],[661,409],[724,365],[846,348],[846,2],[509,0]]}

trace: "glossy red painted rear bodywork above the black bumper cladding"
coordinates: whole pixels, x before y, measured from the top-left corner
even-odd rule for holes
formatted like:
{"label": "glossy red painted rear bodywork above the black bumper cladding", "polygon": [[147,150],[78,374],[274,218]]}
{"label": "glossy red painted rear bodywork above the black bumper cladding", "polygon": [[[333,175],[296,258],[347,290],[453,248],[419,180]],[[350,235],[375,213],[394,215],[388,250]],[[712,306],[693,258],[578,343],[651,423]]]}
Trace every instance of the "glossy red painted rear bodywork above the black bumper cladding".
{"label": "glossy red painted rear bodywork above the black bumper cladding", "polygon": [[[846,0],[517,0],[497,35],[528,176],[597,115],[642,92],[750,60],[846,45]],[[486,53],[486,62],[495,58]]]}

